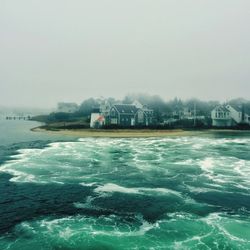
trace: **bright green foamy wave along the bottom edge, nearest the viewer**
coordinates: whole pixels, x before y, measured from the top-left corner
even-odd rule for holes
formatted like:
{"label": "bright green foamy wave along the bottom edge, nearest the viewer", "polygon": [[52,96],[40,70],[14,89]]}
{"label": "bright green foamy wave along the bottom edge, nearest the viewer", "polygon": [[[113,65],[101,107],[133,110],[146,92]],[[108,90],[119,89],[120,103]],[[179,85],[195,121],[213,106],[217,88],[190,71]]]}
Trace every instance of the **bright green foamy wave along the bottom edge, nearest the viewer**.
{"label": "bright green foamy wave along the bottom edge, nearest the viewer", "polygon": [[[199,217],[174,212],[148,223],[120,216],[68,216],[26,221],[15,227],[16,240],[4,236],[9,249],[249,249],[250,221],[226,213]],[[244,233],[245,231],[245,233]],[[241,234],[241,235],[240,235]],[[7,249],[2,248],[2,249]]]}

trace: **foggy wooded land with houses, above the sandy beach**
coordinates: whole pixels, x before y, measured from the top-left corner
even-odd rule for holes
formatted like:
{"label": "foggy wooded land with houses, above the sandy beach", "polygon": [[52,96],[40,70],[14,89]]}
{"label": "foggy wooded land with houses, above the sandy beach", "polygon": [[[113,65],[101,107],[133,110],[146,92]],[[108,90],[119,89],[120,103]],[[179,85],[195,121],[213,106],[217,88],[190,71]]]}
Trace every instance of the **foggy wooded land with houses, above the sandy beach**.
{"label": "foggy wooded land with houses, above the sandy beach", "polygon": [[224,103],[196,98],[164,101],[144,94],[115,98],[89,98],[80,105],[60,102],[57,109],[36,115],[46,130],[79,129],[249,129],[250,100]]}

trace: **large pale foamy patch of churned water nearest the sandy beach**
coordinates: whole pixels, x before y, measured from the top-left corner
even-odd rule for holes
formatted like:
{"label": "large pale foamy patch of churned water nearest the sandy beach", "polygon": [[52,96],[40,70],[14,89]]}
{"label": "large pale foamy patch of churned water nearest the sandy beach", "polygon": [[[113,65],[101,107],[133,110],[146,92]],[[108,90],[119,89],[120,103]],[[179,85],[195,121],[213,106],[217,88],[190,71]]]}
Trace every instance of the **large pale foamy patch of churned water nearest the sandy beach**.
{"label": "large pale foamy patch of churned water nearest the sandy beach", "polygon": [[[185,166],[183,171],[189,171],[190,168],[188,172],[190,176],[195,168],[200,168],[201,177],[206,176],[213,182],[210,183],[211,188],[220,189],[224,184],[238,185],[240,188],[240,183],[246,190],[250,187],[250,162],[236,157],[221,156],[213,146],[216,143],[248,142],[249,139],[198,137],[136,140],[83,138],[77,142],[50,143],[43,149],[19,150],[17,156],[3,164],[1,171],[13,174],[11,180],[16,182],[58,184],[74,182],[83,186],[97,186],[96,192],[179,195],[173,190],[140,187],[139,179],[143,176],[145,179],[157,182],[156,173],[158,173],[160,177],[166,176],[166,180],[169,180],[171,178],[169,176],[182,174],[180,168],[176,166],[174,169],[173,165],[183,165]],[[204,152],[197,150],[207,145],[210,147],[207,154],[205,149]],[[192,153],[195,154],[193,158]],[[176,156],[173,157],[174,154]],[[117,178],[119,174],[123,175],[125,168],[128,171],[128,178],[130,173],[133,178],[138,175],[135,187],[110,183],[112,180],[110,177],[115,175]],[[100,186],[100,183],[107,184]]]}

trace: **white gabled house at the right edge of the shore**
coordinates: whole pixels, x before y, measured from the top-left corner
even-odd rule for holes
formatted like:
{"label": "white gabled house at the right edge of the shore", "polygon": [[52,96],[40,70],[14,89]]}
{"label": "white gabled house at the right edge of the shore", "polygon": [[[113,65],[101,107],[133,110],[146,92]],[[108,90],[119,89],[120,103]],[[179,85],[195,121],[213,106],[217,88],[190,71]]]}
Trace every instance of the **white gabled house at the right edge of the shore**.
{"label": "white gabled house at the right edge of the shore", "polygon": [[215,107],[211,112],[212,125],[215,127],[232,127],[237,124],[250,124],[250,115],[243,108],[229,104]]}

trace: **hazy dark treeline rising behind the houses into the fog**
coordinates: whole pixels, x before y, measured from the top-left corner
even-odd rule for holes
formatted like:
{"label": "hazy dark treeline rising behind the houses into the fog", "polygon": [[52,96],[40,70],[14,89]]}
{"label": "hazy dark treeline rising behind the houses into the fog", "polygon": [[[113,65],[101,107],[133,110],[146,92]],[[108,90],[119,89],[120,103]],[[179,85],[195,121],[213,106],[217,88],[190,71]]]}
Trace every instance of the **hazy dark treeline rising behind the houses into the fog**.
{"label": "hazy dark treeline rising behind the houses into the fog", "polygon": [[[189,109],[191,112],[196,112],[197,116],[210,117],[211,111],[219,104],[219,101],[202,101],[196,98],[189,100],[181,100],[174,98],[169,101],[163,100],[158,95],[145,95],[145,94],[129,94],[122,100],[109,98],[88,98],[84,100],[79,106],[78,110],[74,113],[53,112],[48,116],[40,116],[41,121],[55,122],[55,121],[74,121],[81,120],[82,122],[89,122],[89,117],[93,109],[96,109],[104,101],[109,102],[111,105],[115,103],[131,104],[134,100],[138,100],[143,105],[147,105],[154,110],[154,116],[157,122],[163,122],[164,119],[173,117],[174,113],[181,112],[184,108]],[[236,106],[244,104],[245,110],[250,113],[250,101],[242,98],[233,99],[227,103]],[[39,120],[39,117],[36,117]]]}

